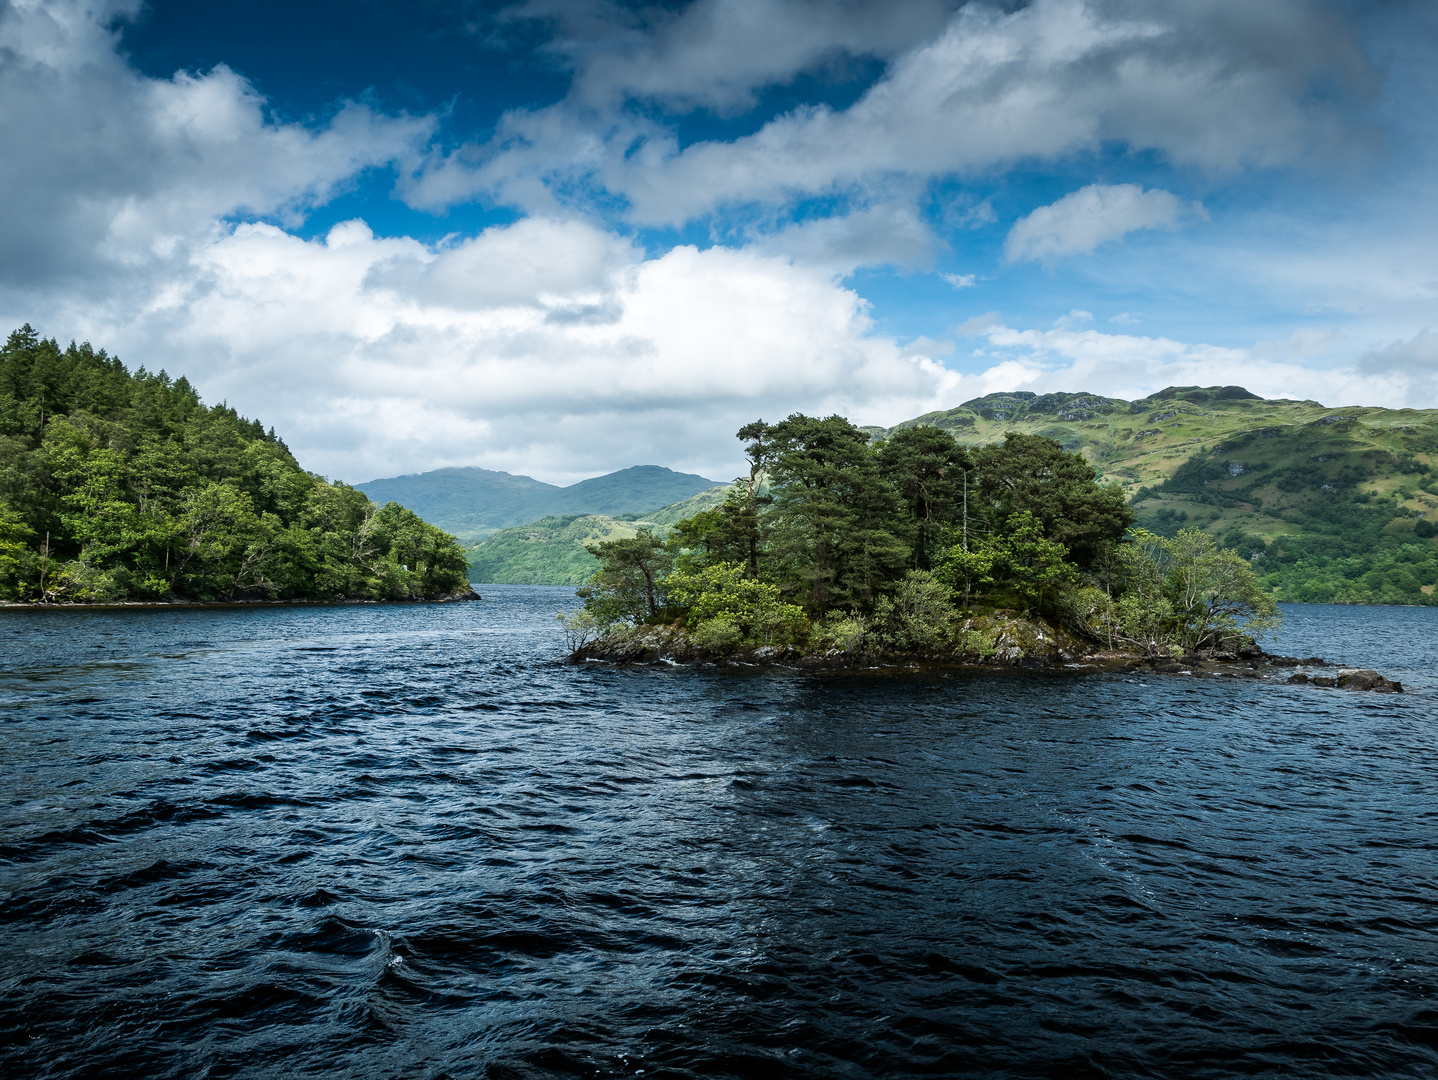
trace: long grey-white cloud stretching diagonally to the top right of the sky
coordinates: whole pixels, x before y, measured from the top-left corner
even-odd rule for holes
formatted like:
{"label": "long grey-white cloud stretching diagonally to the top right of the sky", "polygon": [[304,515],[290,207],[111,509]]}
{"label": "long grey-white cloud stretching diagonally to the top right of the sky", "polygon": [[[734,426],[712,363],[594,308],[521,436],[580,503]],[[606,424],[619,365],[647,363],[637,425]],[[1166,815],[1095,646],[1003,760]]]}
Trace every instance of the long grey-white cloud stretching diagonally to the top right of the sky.
{"label": "long grey-white cloud stretching diagonally to the top right of the sky", "polygon": [[1106,142],[1209,171],[1270,167],[1345,145],[1334,95],[1313,92],[1333,76],[1360,82],[1363,60],[1317,0],[966,4],[846,109],[802,106],[751,135],[682,148],[649,114],[571,98],[510,114],[483,147],[436,155],[407,197],[441,206],[483,193],[548,209],[603,190],[627,200],[636,223],[680,224],[725,206],[979,174]]}

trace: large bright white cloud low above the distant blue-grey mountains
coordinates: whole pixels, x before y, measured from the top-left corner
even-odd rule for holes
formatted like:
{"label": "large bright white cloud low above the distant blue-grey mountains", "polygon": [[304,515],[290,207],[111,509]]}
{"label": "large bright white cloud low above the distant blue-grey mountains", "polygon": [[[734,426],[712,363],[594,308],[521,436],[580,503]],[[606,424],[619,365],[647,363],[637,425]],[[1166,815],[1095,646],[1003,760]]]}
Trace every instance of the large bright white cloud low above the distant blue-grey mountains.
{"label": "large bright white cloud low above the distant blue-grey mountains", "polygon": [[443,465],[564,480],[647,462],[725,479],[749,420],[894,423],[955,384],[874,334],[825,270],[723,247],[644,257],[562,220],[454,246],[361,221],[311,242],[242,224],[138,311],[53,318],[184,371],[276,424],[306,467],[352,480]]}

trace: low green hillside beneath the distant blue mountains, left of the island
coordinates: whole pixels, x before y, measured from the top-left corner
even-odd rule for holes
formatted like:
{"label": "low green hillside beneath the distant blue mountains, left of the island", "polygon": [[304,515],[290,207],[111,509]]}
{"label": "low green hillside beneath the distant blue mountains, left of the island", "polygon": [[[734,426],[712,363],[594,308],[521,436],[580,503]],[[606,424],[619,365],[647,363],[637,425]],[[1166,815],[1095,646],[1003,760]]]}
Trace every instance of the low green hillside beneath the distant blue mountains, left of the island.
{"label": "low green hillside beneath the distant blue mountains, left of the island", "polygon": [[723,502],[728,488],[716,486],[651,511],[615,519],[608,515],[542,518],[493,534],[469,548],[470,581],[503,585],[582,585],[598,569],[585,544],[634,536],[640,529],[663,534],[670,525]]}

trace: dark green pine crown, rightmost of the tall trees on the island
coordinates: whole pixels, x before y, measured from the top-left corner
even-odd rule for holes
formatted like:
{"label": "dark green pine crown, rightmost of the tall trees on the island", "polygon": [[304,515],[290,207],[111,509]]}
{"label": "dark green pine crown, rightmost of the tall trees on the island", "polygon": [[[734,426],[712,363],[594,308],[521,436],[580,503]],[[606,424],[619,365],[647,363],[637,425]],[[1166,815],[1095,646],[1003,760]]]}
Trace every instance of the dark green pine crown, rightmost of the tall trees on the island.
{"label": "dark green pine crown, rightmost of the tall trees on the island", "polygon": [[1083,454],[1053,439],[1009,431],[974,452],[974,469],[992,529],[1008,531],[1009,519],[1027,511],[1080,568],[1117,544],[1135,519],[1117,485],[1100,485]]}

